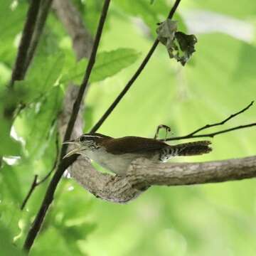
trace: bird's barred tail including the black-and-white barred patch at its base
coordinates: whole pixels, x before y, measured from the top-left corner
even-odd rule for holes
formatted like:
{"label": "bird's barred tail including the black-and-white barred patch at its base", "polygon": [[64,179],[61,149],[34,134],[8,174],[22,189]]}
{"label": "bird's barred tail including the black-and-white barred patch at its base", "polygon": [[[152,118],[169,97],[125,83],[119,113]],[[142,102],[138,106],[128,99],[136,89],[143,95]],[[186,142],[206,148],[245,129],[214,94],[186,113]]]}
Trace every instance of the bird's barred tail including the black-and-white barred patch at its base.
{"label": "bird's barred tail including the black-and-white barred patch at its base", "polygon": [[209,146],[211,142],[188,142],[163,149],[160,154],[160,160],[166,161],[173,156],[196,156],[209,153],[212,149]]}

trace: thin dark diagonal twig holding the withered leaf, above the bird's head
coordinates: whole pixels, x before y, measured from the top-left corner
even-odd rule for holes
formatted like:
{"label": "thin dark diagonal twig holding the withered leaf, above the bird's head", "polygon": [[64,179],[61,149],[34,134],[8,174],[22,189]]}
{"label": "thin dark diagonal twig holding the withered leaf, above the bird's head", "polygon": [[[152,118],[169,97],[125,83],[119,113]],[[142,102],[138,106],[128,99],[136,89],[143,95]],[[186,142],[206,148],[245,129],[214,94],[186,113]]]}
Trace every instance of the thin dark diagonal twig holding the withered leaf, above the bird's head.
{"label": "thin dark diagonal twig holding the withered leaf, above the bird's head", "polygon": [[[174,16],[174,13],[176,11],[176,9],[178,8],[178,4],[180,3],[181,0],[176,0],[174,6],[172,7],[168,18],[172,18]],[[117,98],[114,100],[114,102],[112,103],[112,105],[110,105],[110,107],[107,109],[107,111],[102,115],[102,117],[100,118],[100,120],[97,122],[97,124],[95,124],[94,127],[92,127],[92,129],[90,130],[90,132],[96,132],[97,129],[99,129],[101,127],[101,125],[103,124],[103,122],[105,122],[105,119],[107,119],[107,117],[111,114],[111,112],[114,110],[114,108],[117,106],[117,104],[119,103],[120,100],[122,100],[122,97],[124,97],[124,95],[127,93],[127,91],[129,90],[129,88],[133,85],[134,81],[137,80],[137,78],[139,77],[140,73],[142,73],[142,70],[144,70],[146,64],[148,63],[149,59],[151,58],[151,55],[153,55],[154,50],[156,50],[156,47],[159,44],[159,39],[156,38],[156,40],[153,43],[153,46],[151,46],[149,53],[146,55],[146,57],[144,58],[144,60],[142,61],[142,64],[139,66],[139,68],[137,69],[137,71],[134,73],[134,75],[132,76],[132,78],[129,80],[129,82],[127,82],[127,85],[125,85],[124,89],[122,90],[122,92],[120,92],[120,94],[117,96]]]}

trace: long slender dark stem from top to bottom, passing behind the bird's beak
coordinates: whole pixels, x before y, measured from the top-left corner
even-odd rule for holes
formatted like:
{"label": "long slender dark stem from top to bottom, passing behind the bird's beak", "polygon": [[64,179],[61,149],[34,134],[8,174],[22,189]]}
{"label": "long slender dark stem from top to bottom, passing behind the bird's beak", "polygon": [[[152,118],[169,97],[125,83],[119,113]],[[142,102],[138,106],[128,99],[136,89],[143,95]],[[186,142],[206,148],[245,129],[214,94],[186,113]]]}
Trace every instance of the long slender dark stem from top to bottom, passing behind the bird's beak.
{"label": "long slender dark stem from top to bottom, passing behind the bird's beak", "polygon": [[[97,48],[100,43],[100,38],[102,35],[102,30],[103,30],[103,27],[105,24],[109,6],[110,6],[110,0],[105,0],[104,5],[102,7],[100,21],[99,21],[99,24],[97,27],[97,33],[95,36],[92,53],[90,55],[90,60],[89,60],[89,63],[87,65],[87,68],[85,71],[85,78],[83,79],[82,84],[80,85],[78,97],[75,100],[75,103],[73,105],[73,111],[70,116],[70,120],[68,122],[68,127],[65,132],[64,140],[70,139],[70,135],[73,131],[75,119],[77,118],[78,112],[80,110],[80,104],[82,102],[83,93],[85,92],[85,89],[87,87],[87,82],[90,78],[90,74],[91,74],[93,65],[95,63],[95,56],[97,54]],[[60,151],[60,159],[63,158],[66,151],[67,151],[67,144],[63,144],[61,151]],[[57,188],[58,182],[60,181],[60,178],[63,176],[63,172],[67,168],[67,163],[69,163],[69,161],[70,160],[67,160],[67,161],[61,160],[60,164],[58,164],[58,169],[55,171],[55,174],[53,175],[53,178],[50,181],[50,184],[46,191],[45,198],[43,199],[43,202],[41,204],[41,208],[38,210],[36,219],[33,221],[33,224],[31,225],[31,229],[28,231],[28,235],[27,235],[25,243],[23,245],[23,249],[26,251],[29,251],[31,249],[31,246],[33,245],[33,241],[35,240],[36,235],[38,234],[38,231],[41,228],[41,224],[43,223],[43,219],[44,219],[46,212],[50,206],[50,203],[53,201],[53,195],[55,193],[55,189]]]}

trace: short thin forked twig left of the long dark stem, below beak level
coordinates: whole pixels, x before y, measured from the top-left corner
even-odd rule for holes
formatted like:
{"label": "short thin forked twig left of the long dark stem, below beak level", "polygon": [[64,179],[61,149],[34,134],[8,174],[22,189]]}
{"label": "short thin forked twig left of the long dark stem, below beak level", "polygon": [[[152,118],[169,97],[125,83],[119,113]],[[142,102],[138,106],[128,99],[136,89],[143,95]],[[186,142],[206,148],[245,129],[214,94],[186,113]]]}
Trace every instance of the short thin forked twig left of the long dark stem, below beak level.
{"label": "short thin forked twig left of the long dark stem, below beak level", "polygon": [[41,181],[37,181],[38,175],[35,175],[33,182],[31,183],[31,188],[28,191],[28,194],[26,195],[25,199],[23,200],[23,203],[21,204],[21,210],[23,210],[23,208],[26,206],[26,203],[28,202],[28,199],[31,197],[33,191],[35,190],[35,188],[39,185],[41,185],[41,183],[45,182],[47,180],[47,178],[50,177],[50,174],[53,173],[53,171],[55,170],[57,164],[58,164],[58,155],[60,154],[60,146],[59,146],[59,140],[58,140],[58,132],[56,134],[56,139],[55,139],[55,145],[56,145],[56,157],[55,157],[55,161],[53,164],[52,169],[48,172],[48,174],[46,174],[46,176],[44,176]]}

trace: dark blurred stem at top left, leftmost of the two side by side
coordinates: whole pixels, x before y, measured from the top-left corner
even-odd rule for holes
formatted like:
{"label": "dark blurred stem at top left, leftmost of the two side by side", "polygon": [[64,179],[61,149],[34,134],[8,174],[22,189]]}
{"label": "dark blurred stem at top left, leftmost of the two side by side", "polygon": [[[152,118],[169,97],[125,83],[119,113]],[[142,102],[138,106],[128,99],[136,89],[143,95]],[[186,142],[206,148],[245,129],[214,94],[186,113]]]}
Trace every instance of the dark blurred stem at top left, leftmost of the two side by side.
{"label": "dark blurred stem at top left, leftmost of the two side by side", "polygon": [[10,87],[14,86],[16,80],[23,80],[26,73],[26,60],[28,49],[31,44],[31,38],[36,26],[36,18],[40,9],[41,0],[32,0],[28,9],[26,23],[23,28],[21,43],[18,46],[18,53],[14,65],[13,73],[11,74]]}

